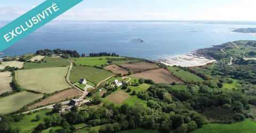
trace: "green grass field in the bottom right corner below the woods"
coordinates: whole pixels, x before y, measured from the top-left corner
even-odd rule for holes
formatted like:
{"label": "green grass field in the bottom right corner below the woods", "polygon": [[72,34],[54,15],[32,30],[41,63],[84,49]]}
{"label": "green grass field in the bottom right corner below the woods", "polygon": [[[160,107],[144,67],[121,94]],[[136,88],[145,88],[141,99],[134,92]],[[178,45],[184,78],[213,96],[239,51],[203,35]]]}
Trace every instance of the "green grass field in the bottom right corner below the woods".
{"label": "green grass field in the bottom right corner below the woods", "polygon": [[204,125],[202,128],[197,129],[194,133],[227,133],[227,132],[236,132],[236,133],[253,133],[256,131],[256,122],[246,119],[245,121],[233,123],[233,124],[218,124],[213,123],[209,125]]}

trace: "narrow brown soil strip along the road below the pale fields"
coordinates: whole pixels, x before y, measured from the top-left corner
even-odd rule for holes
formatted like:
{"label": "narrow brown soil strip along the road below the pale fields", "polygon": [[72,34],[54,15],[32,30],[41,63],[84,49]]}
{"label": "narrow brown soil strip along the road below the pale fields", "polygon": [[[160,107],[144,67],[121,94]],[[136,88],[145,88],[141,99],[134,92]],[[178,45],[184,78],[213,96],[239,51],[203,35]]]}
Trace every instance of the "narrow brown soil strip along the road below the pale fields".
{"label": "narrow brown soil strip along the road below the pale fields", "polygon": [[66,91],[62,91],[58,94],[54,94],[50,97],[47,97],[46,99],[44,99],[44,100],[42,100],[42,101],[40,101],[36,104],[30,105],[28,107],[28,109],[29,110],[35,109],[39,106],[61,102],[63,100],[71,99],[73,97],[81,96],[81,95],[83,95],[83,93],[81,91],[78,91],[76,89],[69,89],[69,90],[66,90]]}

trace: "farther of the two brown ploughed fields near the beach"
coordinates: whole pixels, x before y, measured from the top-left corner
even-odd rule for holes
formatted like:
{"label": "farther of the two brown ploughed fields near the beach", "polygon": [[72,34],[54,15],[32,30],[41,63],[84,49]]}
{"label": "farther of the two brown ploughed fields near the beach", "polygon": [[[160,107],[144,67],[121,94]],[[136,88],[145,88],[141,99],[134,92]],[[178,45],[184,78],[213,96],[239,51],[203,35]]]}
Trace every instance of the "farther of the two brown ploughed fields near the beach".
{"label": "farther of the two brown ploughed fields near the beach", "polygon": [[126,69],[132,70],[133,72],[140,72],[142,70],[159,68],[156,64],[146,63],[146,62],[139,62],[139,63],[132,63],[132,64],[121,64],[121,66]]}

